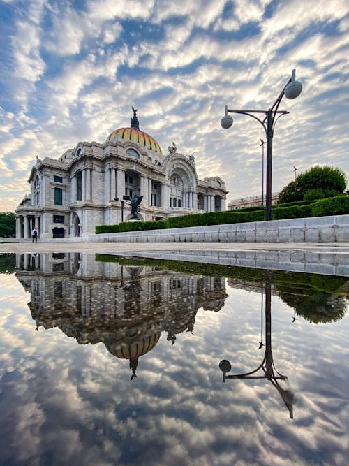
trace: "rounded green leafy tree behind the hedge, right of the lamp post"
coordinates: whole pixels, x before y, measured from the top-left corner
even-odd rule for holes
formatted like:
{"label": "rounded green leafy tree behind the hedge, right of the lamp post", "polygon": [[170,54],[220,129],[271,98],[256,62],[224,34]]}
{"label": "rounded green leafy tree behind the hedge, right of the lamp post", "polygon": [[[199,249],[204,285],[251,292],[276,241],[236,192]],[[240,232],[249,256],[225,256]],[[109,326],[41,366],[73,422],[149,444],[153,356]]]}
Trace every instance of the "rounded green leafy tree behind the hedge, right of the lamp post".
{"label": "rounded green leafy tree behind the hedge, right of the lamp post", "polygon": [[295,181],[286,184],[277,203],[339,196],[344,194],[346,181],[346,173],[339,168],[317,165],[300,173]]}

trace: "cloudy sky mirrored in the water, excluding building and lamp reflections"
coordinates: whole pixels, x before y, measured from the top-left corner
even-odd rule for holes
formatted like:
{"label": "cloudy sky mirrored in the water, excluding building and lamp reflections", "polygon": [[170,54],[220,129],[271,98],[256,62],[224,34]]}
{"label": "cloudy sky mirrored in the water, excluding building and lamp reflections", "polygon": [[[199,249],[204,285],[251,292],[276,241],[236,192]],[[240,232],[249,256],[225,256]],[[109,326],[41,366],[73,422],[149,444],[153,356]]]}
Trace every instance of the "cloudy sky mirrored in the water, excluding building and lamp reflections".
{"label": "cloudy sky mirrored in the water, excluding building and lamp reflections", "polygon": [[194,335],[181,333],[174,346],[163,334],[140,358],[132,382],[127,361],[103,344],[77,345],[58,329],[35,332],[27,296],[18,293],[1,310],[4,458],[52,465],[346,465],[348,317],[292,326],[290,308],[273,297],[274,361],[297,395],[290,421],[268,381],[223,384],[218,369],[223,356],[234,360],[234,370],[262,360],[258,293],[229,289],[223,310],[200,310]]}

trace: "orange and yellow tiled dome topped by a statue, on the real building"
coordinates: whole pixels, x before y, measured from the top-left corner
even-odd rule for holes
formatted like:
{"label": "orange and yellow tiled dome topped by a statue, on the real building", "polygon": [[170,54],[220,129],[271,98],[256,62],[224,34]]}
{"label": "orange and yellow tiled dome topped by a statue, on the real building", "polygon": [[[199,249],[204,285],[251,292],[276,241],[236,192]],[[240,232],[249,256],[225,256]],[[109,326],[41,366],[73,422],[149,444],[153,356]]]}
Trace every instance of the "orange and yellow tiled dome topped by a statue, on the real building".
{"label": "orange and yellow tiled dome topped by a statue, on the real building", "polygon": [[107,142],[114,142],[116,140],[130,141],[131,143],[140,145],[140,147],[161,154],[161,147],[158,141],[152,136],[149,136],[149,134],[144,133],[144,131],[140,131],[140,123],[136,115],[137,110],[135,108],[132,108],[132,110],[133,117],[131,118],[131,126],[129,128],[115,129],[107,137]]}

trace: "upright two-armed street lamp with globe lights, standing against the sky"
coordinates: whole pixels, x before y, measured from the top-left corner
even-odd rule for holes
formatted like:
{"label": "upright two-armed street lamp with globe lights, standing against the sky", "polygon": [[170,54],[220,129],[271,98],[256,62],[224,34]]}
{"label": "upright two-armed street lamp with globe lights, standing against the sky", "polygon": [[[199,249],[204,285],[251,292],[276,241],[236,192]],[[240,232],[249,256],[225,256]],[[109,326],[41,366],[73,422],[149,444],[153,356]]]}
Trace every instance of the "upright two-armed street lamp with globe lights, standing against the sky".
{"label": "upright two-armed street lamp with globe lights, standing against the sky", "polygon": [[[265,129],[265,135],[267,136],[267,192],[265,198],[265,219],[272,219],[272,154],[273,154],[273,136],[274,128],[276,121],[281,115],[286,115],[288,112],[278,110],[281,99],[283,96],[286,99],[295,99],[302,92],[302,84],[299,81],[296,81],[296,71],[292,71],[292,76],[286,83],[281,94],[276,99],[272,108],[269,110],[230,110],[228,105],[225,105],[225,115],[221,119],[221,126],[224,129],[230,128],[232,126],[232,117],[228,115],[229,113],[242,113],[242,115],[248,115],[256,119],[260,124],[262,124]],[[255,114],[264,113],[264,119],[258,118]],[[278,115],[279,114],[279,115]],[[277,115],[277,116],[276,116]]]}

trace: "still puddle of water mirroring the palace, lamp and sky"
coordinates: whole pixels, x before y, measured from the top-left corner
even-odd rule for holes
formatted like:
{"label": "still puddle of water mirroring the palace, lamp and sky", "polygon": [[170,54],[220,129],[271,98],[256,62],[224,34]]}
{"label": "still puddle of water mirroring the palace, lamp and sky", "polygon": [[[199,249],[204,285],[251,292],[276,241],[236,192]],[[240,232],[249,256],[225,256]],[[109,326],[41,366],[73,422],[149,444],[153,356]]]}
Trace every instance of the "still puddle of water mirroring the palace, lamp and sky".
{"label": "still puddle of water mirroring the palace, lamp and sky", "polygon": [[0,464],[347,464],[347,277],[78,253],[0,271]]}

